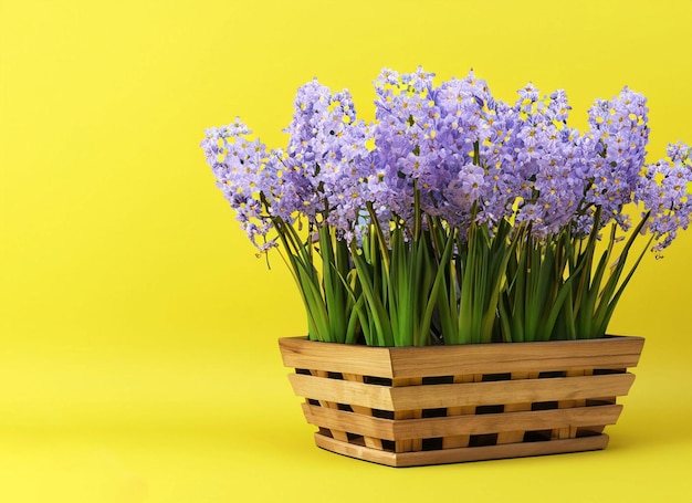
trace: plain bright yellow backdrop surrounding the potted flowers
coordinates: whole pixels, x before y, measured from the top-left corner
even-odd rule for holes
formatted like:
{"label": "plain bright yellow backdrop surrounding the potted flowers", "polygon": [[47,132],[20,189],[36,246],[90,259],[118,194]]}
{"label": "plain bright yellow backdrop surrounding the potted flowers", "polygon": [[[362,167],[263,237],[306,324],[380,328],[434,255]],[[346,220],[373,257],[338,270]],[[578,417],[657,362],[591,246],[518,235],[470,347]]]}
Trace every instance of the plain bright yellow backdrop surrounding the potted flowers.
{"label": "plain bright yellow backdrop surrounding the potted flowers", "polygon": [[642,335],[601,452],[395,470],[313,446],[276,338],[305,332],[205,164],[240,115],[282,146],[298,85],[371,118],[387,65],[473,67],[573,124],[623,85],[649,160],[692,143],[692,2],[0,0],[0,501],[692,501],[692,231],[611,323]]}

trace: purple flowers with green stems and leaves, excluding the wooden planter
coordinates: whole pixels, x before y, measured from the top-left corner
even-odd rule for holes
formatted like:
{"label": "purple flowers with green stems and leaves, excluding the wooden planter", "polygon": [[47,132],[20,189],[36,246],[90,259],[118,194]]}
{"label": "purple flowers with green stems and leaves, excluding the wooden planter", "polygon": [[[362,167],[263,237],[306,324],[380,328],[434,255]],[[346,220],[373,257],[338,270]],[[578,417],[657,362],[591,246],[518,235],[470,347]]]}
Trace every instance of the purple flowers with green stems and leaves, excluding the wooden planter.
{"label": "purple flowers with green stems and leaves, excluding the wooden planter", "polygon": [[647,250],[690,222],[692,149],[646,164],[646,98],[627,87],[587,132],[532,84],[513,105],[472,72],[436,86],[384,70],[375,87],[373,124],[314,80],[285,149],[240,119],[201,144],[248,237],[290,266],[313,340],[602,337]]}

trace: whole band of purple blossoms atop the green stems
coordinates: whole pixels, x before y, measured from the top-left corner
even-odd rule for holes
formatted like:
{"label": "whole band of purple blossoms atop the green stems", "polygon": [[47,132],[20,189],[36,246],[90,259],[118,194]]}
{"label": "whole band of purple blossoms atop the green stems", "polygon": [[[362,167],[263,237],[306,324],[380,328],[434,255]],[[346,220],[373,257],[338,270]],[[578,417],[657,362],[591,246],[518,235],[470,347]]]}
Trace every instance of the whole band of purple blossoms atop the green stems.
{"label": "whole band of purple blossoms atop the green stems", "polygon": [[528,84],[510,105],[473,72],[438,86],[433,76],[384,70],[374,124],[357,118],[347,91],[308,82],[296,95],[285,151],[248,139],[238,119],[208,129],[207,160],[251,239],[266,247],[256,237],[266,235],[271,217],[301,214],[350,240],[366,228],[368,205],[380,218],[410,222],[416,191],[426,214],[461,229],[512,219],[541,238],[566,226],[586,235],[600,208],[600,227],[616,221],[626,230],[623,207],[632,201],[652,211],[657,249],[686,226],[686,147],[644,167],[642,95],[625,87],[597,99],[580,133],[567,125],[563,91],[545,96]]}

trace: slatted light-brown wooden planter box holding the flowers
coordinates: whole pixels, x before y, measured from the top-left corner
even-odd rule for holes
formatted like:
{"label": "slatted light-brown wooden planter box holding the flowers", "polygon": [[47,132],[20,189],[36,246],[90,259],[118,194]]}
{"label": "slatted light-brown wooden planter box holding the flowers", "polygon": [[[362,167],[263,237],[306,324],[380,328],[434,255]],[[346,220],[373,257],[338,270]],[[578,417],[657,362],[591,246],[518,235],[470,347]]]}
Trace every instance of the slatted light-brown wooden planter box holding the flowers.
{"label": "slatted light-brown wooden planter box holding the flowers", "polygon": [[643,342],[279,345],[318,447],[415,467],[604,449]]}

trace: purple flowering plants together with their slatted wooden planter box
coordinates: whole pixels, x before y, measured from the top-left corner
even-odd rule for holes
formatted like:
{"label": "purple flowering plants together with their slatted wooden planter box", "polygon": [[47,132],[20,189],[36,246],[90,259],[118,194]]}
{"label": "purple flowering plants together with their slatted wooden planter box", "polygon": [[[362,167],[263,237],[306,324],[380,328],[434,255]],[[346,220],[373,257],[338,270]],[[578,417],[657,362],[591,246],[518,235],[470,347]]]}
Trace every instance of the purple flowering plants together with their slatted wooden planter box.
{"label": "purple flowering plants together with their slatted wooden planter box", "polygon": [[644,164],[646,98],[627,87],[586,132],[563,91],[531,84],[513,105],[473,73],[384,70],[375,88],[373,124],[314,80],[287,148],[239,119],[202,142],[298,286],[307,337],[280,347],[317,446],[396,467],[605,448],[643,345],[608,323],[690,221],[690,147]]}

